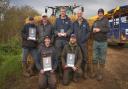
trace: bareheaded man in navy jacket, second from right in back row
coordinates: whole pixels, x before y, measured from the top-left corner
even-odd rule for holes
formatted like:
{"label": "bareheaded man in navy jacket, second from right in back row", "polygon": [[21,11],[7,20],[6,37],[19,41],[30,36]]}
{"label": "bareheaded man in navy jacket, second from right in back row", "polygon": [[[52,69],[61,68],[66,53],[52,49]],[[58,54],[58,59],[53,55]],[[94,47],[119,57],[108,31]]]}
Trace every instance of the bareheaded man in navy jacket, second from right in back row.
{"label": "bareheaded man in navy jacket, second from right in back row", "polygon": [[83,12],[79,10],[77,12],[77,21],[73,23],[74,34],[77,36],[78,44],[82,50],[82,70],[84,79],[87,78],[87,46],[86,43],[88,41],[90,35],[90,27],[85,18],[83,18]]}

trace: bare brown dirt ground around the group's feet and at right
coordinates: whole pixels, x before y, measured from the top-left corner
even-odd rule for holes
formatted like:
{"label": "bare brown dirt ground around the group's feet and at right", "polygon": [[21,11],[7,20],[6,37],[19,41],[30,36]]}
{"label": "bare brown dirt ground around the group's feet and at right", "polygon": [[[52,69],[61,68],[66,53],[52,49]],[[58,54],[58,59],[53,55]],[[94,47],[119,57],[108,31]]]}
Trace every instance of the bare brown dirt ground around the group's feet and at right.
{"label": "bare brown dirt ground around the group's feet and at right", "polygon": [[[8,89],[38,89],[38,77],[21,78]],[[108,48],[103,81],[81,79],[70,86],[58,85],[58,89],[128,89],[128,48]]]}

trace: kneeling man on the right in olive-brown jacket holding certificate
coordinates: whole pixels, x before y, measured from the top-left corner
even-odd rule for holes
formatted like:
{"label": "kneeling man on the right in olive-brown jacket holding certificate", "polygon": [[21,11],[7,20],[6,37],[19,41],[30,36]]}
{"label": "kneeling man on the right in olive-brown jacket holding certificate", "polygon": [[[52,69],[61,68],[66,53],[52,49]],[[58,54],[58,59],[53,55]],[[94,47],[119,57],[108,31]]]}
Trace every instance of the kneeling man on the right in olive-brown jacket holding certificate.
{"label": "kneeling man on the right in olive-brown jacket holding certificate", "polygon": [[62,52],[62,66],[63,66],[63,84],[69,85],[71,81],[71,73],[74,82],[77,82],[81,76],[81,61],[82,53],[80,47],[77,44],[77,39],[75,34],[71,34],[70,41],[65,45]]}

